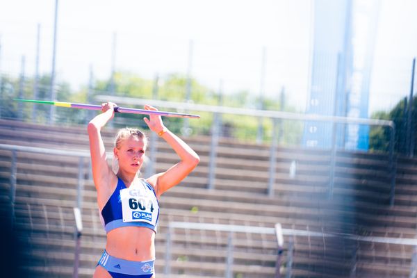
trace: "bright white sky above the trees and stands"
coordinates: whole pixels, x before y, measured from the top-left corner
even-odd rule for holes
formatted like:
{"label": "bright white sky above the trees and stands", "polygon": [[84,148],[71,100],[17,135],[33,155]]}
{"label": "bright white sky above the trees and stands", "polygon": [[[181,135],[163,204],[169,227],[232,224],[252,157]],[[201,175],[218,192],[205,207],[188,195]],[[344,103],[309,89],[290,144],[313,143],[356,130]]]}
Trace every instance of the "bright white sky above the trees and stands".
{"label": "bright white sky above the trees and stands", "polygon": [[[224,92],[261,88],[266,49],[265,94],[304,111],[309,90],[313,0],[59,0],[58,79],[74,89],[111,73],[113,33],[116,70],[153,78],[186,74],[193,41],[191,74]],[[41,24],[40,72],[51,72],[55,0],[0,2],[0,71],[35,72],[37,24]],[[417,56],[417,1],[381,0],[370,111],[388,110],[409,94],[411,62]]]}

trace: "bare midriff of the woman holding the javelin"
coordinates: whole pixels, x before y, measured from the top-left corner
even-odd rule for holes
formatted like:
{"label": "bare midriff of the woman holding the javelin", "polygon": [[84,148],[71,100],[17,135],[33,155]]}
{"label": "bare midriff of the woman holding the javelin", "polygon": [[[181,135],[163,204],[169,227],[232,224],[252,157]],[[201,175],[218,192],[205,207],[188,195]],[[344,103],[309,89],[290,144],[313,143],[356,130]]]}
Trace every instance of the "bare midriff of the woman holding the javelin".
{"label": "bare midriff of the woman holding the javelin", "polygon": [[145,227],[120,227],[107,234],[106,252],[129,261],[155,259],[155,232]]}

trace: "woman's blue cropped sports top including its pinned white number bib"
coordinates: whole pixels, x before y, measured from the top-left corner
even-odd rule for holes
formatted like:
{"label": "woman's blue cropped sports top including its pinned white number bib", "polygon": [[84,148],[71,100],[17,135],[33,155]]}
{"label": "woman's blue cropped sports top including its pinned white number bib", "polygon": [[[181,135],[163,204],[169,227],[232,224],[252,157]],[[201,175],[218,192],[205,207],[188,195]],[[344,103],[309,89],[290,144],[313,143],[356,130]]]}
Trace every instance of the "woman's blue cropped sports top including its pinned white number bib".
{"label": "woman's blue cropped sports top including its pinned white number bib", "polygon": [[144,179],[129,188],[117,177],[117,186],[101,210],[106,233],[119,227],[146,227],[156,232],[159,204],[154,188]]}

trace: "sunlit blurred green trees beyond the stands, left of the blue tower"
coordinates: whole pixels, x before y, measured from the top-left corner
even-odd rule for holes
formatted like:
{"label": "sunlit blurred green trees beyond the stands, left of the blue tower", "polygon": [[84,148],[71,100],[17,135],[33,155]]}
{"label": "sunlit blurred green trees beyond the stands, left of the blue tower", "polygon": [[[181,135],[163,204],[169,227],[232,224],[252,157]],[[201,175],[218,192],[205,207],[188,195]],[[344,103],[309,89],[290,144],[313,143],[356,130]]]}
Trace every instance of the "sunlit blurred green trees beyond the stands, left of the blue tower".
{"label": "sunlit blurred green trees beyond the stands, left of the blue tower", "polygon": [[[142,77],[131,72],[117,72],[114,76],[113,88],[111,92],[111,80],[96,80],[92,82],[92,88],[84,85],[79,90],[72,90],[70,85],[65,82],[58,82],[56,84],[58,101],[70,101],[78,103],[98,104],[95,101],[96,95],[116,95],[120,97],[135,97],[140,99],[158,99],[163,101],[177,101],[182,102],[186,99],[187,77],[182,74],[168,74],[166,76],[159,76],[155,79],[143,79]],[[19,95],[24,99],[33,99],[33,78],[26,78],[24,86],[21,90],[20,78],[10,78],[2,76],[1,79],[1,117],[19,118],[29,122],[46,123],[51,106],[49,105],[34,105],[18,103],[13,99],[18,98]],[[50,77],[41,76],[38,81],[38,95],[36,99],[49,100],[50,96]],[[195,79],[190,80],[191,95],[190,101],[195,104],[205,105],[220,105],[236,108],[258,108],[259,97],[252,95],[248,91],[234,92],[233,94],[222,94],[220,96],[217,90],[208,88],[206,85],[199,83]],[[265,98],[263,107],[266,110],[279,111],[281,104],[279,103],[279,93],[275,99]],[[22,107],[22,115],[18,111]],[[129,106],[135,107],[135,106]],[[36,109],[33,115],[33,109]],[[136,107],[142,108],[142,107]],[[285,108],[285,111],[295,112],[294,108]],[[182,112],[182,111],[179,111]],[[188,120],[190,130],[183,129],[184,119],[177,117],[165,117],[164,122],[175,133],[190,133],[195,135],[210,135],[213,124],[213,113],[201,111],[188,111],[190,113],[197,113],[202,117],[199,120]],[[92,117],[97,115],[97,111],[85,111],[81,109],[56,108],[56,123],[58,124],[86,124]],[[145,117],[145,116],[142,116]],[[140,115],[134,114],[118,114],[113,120],[113,127],[124,126],[138,126],[140,129],[147,129],[145,122],[143,122]],[[268,142],[272,138],[273,122],[269,118],[261,120],[263,124],[263,140]],[[259,126],[259,118],[243,115],[224,114],[221,117],[221,133],[224,137],[237,138],[239,140],[254,141],[256,140],[256,133]],[[281,129],[281,143],[288,143],[297,145],[301,142],[302,137],[302,123],[295,123],[293,121],[280,122]]]}

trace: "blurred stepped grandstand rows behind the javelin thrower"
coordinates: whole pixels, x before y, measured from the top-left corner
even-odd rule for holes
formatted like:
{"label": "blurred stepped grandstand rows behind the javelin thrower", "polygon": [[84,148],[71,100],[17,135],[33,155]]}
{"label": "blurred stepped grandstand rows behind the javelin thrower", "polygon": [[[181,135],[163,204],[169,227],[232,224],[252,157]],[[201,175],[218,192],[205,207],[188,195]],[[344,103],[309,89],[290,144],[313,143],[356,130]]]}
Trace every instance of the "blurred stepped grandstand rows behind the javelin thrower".
{"label": "blurred stepped grandstand rows behind the javelin thrower", "polygon": [[[115,131],[103,131],[108,151]],[[273,196],[268,196],[268,145],[222,138],[217,149],[215,188],[207,189],[210,138],[187,142],[201,158],[199,166],[179,186],[161,197],[156,235],[156,273],[165,277],[167,225],[172,221],[238,224],[284,229],[338,232],[359,236],[416,236],[417,159],[398,158],[395,203],[389,205],[391,176],[386,154],[338,151],[334,189],[329,198],[332,154],[322,149],[279,147]],[[152,143],[152,142],[151,142]],[[85,126],[44,126],[0,120],[0,144],[88,152]],[[0,149],[0,192],[10,191],[11,152]],[[156,171],[177,156],[161,140],[154,158]],[[99,221],[89,161],[83,167],[83,236],[80,277],[91,277],[106,237]],[[295,175],[289,174],[295,162]],[[31,277],[72,277],[74,215],[79,158],[17,153],[15,228],[31,256]],[[277,240],[272,235],[234,234],[234,277],[274,277]],[[281,271],[288,264],[293,240],[293,277],[409,277],[414,247],[363,243],[343,238],[285,236]],[[177,229],[172,234],[170,277],[224,277],[227,234]]]}

